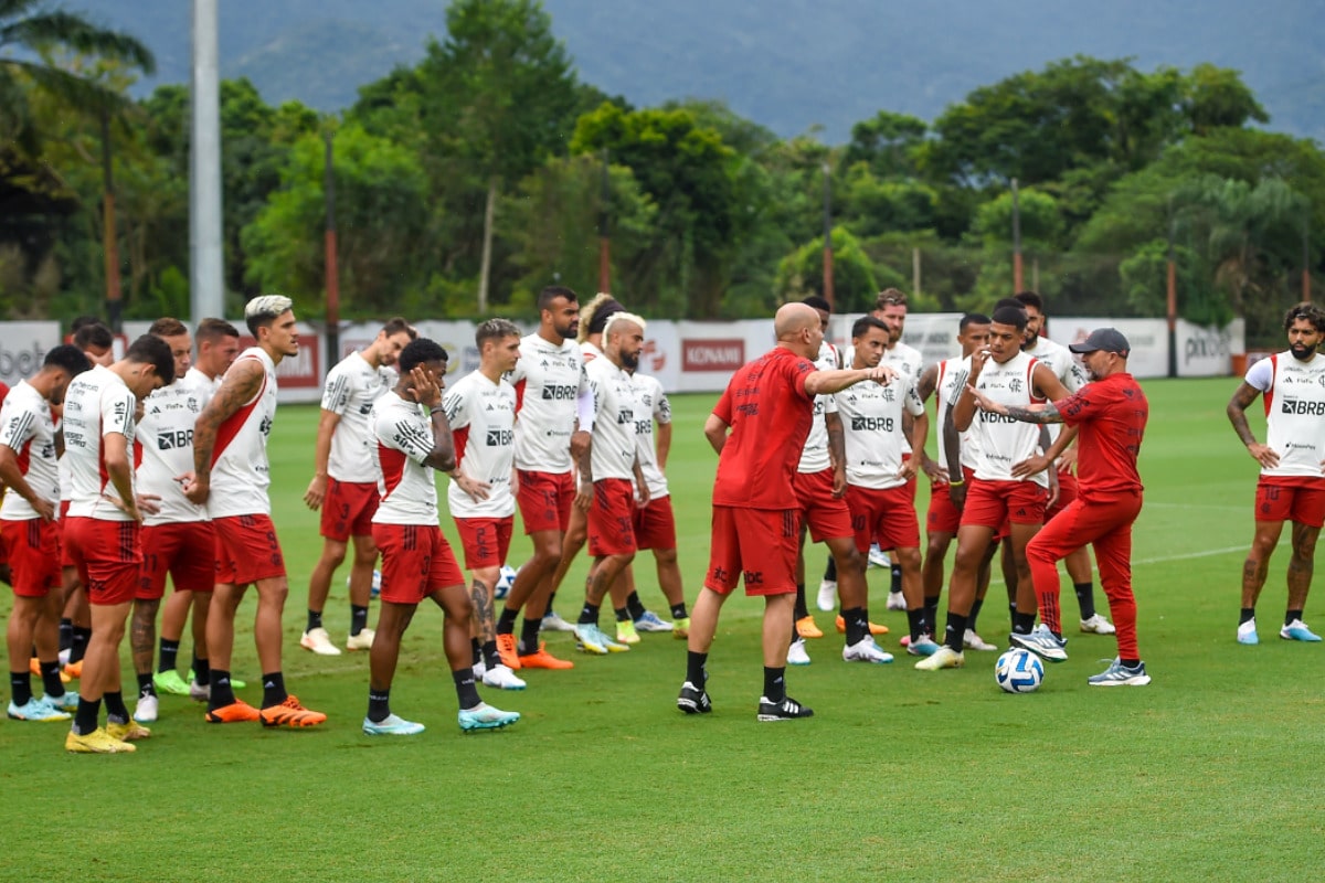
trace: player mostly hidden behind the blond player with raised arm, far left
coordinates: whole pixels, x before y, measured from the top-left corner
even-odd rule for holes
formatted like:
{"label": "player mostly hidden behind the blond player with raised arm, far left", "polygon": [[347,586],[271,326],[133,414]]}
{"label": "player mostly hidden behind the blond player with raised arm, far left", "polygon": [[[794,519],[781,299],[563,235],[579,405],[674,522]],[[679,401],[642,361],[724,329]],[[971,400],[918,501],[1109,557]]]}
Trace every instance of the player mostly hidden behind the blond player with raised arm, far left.
{"label": "player mostly hidden behind the blond player with raised arm, far left", "polygon": [[[232,326],[224,319],[203,319],[197,323],[197,331],[193,335],[193,340],[197,346],[197,359],[193,360],[193,365],[184,375],[184,387],[191,392],[193,397],[197,398],[199,409],[205,408],[207,402],[212,400],[216,391],[221,388],[221,376],[229,369],[231,363],[235,361],[235,356],[240,352],[240,332],[238,328]],[[196,421],[195,421],[196,422]],[[176,485],[175,479],[187,474],[193,469],[193,425],[189,424],[186,428],[188,445],[184,447],[175,447],[172,457],[186,458],[184,469],[180,471],[170,473],[166,478],[170,479],[171,485]],[[142,432],[139,425],[139,432]],[[200,506],[193,506],[188,503],[187,498],[184,502],[200,512],[201,518],[207,518],[207,510]],[[172,528],[184,530],[184,528]],[[211,561],[208,568],[207,588],[200,593],[187,592],[180,588],[176,582],[170,597],[162,606],[162,637],[160,649],[158,650],[156,674],[152,676],[152,683],[160,692],[174,694],[176,696],[189,696],[199,702],[207,700],[207,694],[211,690],[211,661],[207,654],[207,613],[212,604],[212,576],[215,576],[215,557],[216,557],[216,534],[208,526],[207,532],[211,536],[211,544],[205,547],[201,545],[201,531],[199,528],[191,528],[199,534],[196,547],[199,555],[204,560]],[[179,676],[178,659],[179,659],[179,645],[184,635],[184,624],[188,621],[189,608],[193,610],[193,624],[192,624],[192,637],[193,637],[193,661],[189,665],[189,671],[192,673],[191,679],[186,680]],[[231,686],[235,688],[242,688],[245,684],[238,678],[231,678]]]}

